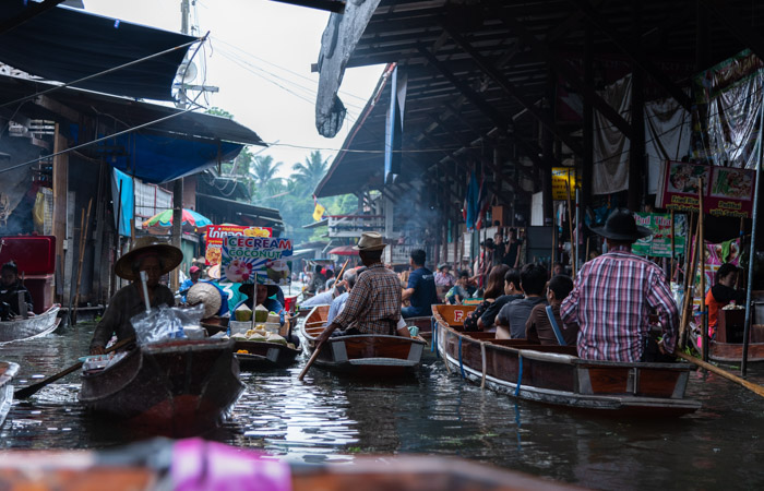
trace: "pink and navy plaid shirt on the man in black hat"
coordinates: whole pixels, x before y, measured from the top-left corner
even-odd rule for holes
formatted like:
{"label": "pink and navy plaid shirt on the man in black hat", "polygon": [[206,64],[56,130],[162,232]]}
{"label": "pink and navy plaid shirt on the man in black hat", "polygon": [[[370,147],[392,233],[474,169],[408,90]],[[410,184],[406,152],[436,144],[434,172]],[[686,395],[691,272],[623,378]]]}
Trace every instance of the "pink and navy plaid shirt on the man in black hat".
{"label": "pink and navy plaid shirt on the man in black hat", "polygon": [[578,324],[578,356],[589,360],[640,361],[653,309],[664,328],[664,346],[673,352],[679,314],[664,272],[631,253],[611,248],[584,264],[560,316]]}

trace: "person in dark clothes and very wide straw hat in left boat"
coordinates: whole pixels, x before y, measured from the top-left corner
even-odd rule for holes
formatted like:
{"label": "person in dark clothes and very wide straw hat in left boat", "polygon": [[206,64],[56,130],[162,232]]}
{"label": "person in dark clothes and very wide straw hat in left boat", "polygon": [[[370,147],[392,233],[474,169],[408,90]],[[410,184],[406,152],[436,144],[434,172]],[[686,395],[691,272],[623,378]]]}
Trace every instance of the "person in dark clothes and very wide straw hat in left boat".
{"label": "person in dark clothes and very wide straw hat in left boat", "polygon": [[146,272],[146,288],[151,307],[175,306],[175,295],[159,284],[162,276],[171,272],[183,260],[183,253],[175,246],[162,242],[153,236],[140,237],[132,249],[115,265],[115,274],[132,282],[111,297],[104,316],[93,333],[91,355],[103,355],[112,335],[117,340],[135,336],[130,320],[145,310],[140,272]]}

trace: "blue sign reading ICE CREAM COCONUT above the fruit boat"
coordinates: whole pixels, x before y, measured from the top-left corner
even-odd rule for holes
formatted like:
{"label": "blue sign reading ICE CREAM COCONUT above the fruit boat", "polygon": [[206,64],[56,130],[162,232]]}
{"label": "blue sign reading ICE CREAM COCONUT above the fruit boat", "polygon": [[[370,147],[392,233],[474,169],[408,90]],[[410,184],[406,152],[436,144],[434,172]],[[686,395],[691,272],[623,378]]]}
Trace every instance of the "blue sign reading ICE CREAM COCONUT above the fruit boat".
{"label": "blue sign reading ICE CREAM COCONUT above the fruit boat", "polygon": [[220,282],[288,285],[290,260],[290,239],[226,236]]}

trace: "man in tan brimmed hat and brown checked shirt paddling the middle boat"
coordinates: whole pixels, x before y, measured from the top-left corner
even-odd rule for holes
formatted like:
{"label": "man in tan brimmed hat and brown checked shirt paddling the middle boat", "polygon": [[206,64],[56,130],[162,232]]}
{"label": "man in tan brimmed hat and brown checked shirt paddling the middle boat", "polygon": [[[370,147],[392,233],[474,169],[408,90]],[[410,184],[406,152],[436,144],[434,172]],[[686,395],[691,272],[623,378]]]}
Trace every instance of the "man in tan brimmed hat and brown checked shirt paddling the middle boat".
{"label": "man in tan brimmed hat and brown checked shirt paddling the middle boat", "polygon": [[408,336],[408,330],[397,330],[401,320],[401,283],[395,273],[382,264],[382,251],[385,248],[382,236],[378,232],[363,232],[358,251],[367,271],[356,280],[350,290],[345,309],[317,338],[324,343],[335,330],[345,334],[399,334]]}

